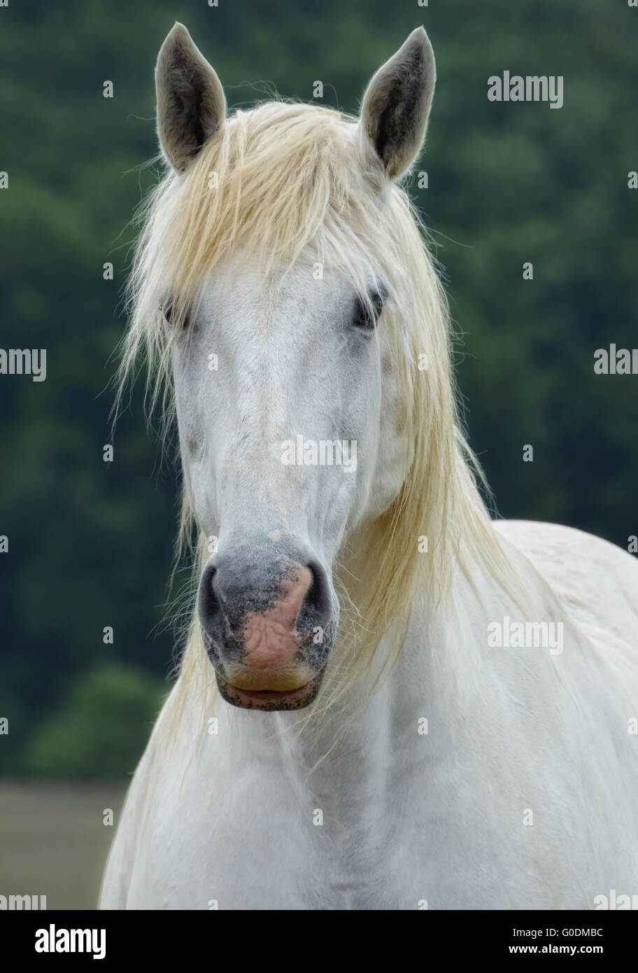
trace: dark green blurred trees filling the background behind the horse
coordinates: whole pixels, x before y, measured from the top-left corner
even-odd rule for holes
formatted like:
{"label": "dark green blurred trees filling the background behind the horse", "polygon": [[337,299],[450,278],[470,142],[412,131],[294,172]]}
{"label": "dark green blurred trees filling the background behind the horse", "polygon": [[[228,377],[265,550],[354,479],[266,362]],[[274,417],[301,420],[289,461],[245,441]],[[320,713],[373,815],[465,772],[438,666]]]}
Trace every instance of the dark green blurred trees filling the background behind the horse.
{"label": "dark green blurred trees filling the background behind the horse", "polygon": [[[139,389],[113,463],[102,447],[128,221],[155,179],[140,167],[157,152],[153,67],[175,19],[231,106],[269,86],[308,100],[319,79],[325,100],[350,112],[425,23],[439,84],[420,165],[429,189],[413,180],[412,191],[463,333],[459,384],[499,510],[623,546],[638,532],[638,378],[592,367],[597,347],[636,344],[638,192],[627,173],[638,169],[638,10],[624,0],[27,0],[0,18],[1,343],[48,349],[45,382],[0,377],[10,544],[0,555],[0,715],[10,720],[0,772],[131,771],[171,657],[171,632],[158,626],[176,475],[147,437]],[[563,75],[564,107],[488,102],[487,78],[504,69]],[[533,463],[521,461],[528,443]]]}

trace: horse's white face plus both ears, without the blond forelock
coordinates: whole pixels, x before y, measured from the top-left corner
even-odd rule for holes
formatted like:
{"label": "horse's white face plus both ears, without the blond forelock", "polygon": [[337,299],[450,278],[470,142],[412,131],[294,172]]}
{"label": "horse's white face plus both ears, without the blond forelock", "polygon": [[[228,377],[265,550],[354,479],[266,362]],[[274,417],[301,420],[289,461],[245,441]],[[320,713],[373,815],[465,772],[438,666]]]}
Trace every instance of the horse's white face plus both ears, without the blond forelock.
{"label": "horse's white face plus both ears, without the blond forelock", "polygon": [[[418,28],[372,78],[348,129],[347,171],[370,177],[361,206],[375,206],[413,162],[435,73]],[[181,24],[162,45],[156,82],[159,141],[178,191],[205,144],[227,137],[226,99]],[[339,547],[387,508],[406,474],[382,326],[388,293],[374,274],[357,293],[337,270],[315,273],[301,259],[267,280],[247,254],[231,264],[215,263],[172,342],[185,484],[214,538],[198,617],[229,703],[293,709],[315,698],[334,643]]]}

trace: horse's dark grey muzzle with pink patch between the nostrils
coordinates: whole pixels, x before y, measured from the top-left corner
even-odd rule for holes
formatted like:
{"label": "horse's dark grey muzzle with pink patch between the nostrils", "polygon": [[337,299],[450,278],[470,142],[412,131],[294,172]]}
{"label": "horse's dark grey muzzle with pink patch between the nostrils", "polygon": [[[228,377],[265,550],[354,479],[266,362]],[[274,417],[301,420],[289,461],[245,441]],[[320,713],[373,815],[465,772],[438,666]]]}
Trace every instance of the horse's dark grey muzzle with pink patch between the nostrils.
{"label": "horse's dark grey muzzle with pink patch between the nostrils", "polygon": [[301,709],[316,698],[338,607],[328,572],[307,551],[227,545],[202,572],[197,613],[227,703]]}

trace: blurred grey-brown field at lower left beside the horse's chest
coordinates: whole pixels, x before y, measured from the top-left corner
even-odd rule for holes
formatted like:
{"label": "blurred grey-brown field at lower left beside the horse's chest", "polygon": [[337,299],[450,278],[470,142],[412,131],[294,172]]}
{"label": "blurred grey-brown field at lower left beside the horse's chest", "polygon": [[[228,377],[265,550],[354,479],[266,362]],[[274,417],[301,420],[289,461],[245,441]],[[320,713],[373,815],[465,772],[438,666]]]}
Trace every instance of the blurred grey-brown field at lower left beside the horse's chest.
{"label": "blurred grey-brown field at lower left beside the horse's chest", "polygon": [[[126,782],[0,783],[0,895],[46,895],[48,909],[95,909]],[[103,824],[113,809],[114,826]]]}

